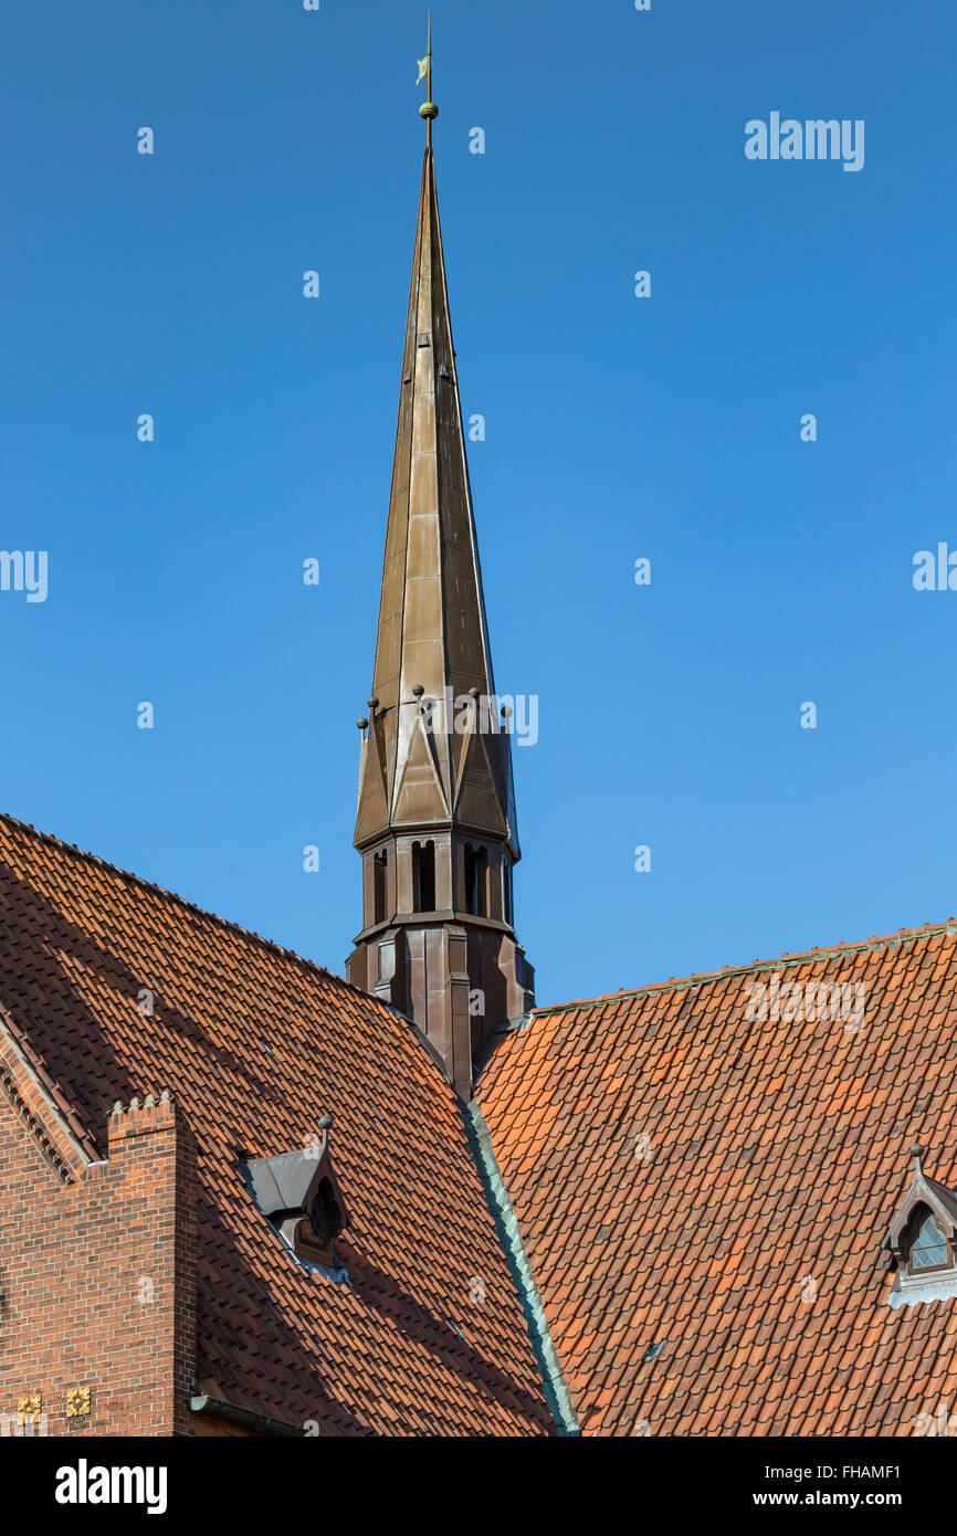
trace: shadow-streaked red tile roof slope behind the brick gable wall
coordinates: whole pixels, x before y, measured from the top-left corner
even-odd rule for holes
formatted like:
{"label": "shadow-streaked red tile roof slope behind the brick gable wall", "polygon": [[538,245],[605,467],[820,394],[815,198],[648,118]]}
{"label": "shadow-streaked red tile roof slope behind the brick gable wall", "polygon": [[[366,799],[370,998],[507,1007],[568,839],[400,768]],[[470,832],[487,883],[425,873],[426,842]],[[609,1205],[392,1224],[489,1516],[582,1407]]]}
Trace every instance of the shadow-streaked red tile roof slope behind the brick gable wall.
{"label": "shadow-streaked red tile roof slope behind the brick gable wall", "polygon": [[[323,1435],[550,1432],[458,1103],[409,1023],[6,817],[0,1005],[100,1157],[115,1100],[175,1091],[200,1152],[200,1392]],[[324,1111],[349,1286],[295,1263],[240,1169]]]}

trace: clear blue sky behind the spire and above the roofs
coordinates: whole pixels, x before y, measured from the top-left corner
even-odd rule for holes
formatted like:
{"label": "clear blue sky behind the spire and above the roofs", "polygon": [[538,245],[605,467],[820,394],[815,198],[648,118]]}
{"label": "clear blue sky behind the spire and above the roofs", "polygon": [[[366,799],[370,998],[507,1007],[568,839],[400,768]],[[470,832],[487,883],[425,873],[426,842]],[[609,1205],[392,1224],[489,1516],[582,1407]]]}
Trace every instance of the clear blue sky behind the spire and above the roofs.
{"label": "clear blue sky behind the spire and above the roofs", "polygon": [[[0,593],[0,806],[332,969],[359,926],[424,22],[0,22],[0,547],[49,551],[45,604]],[[539,1001],[948,917],[957,591],[911,576],[957,548],[952,5],[433,23],[496,680],[541,699],[515,754]],[[863,118],[863,170],[745,160],[771,111]]]}

